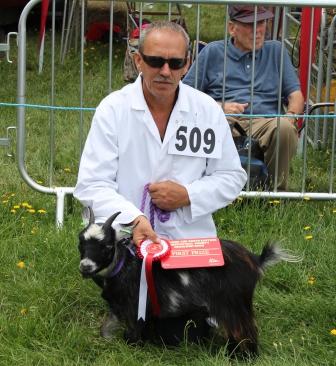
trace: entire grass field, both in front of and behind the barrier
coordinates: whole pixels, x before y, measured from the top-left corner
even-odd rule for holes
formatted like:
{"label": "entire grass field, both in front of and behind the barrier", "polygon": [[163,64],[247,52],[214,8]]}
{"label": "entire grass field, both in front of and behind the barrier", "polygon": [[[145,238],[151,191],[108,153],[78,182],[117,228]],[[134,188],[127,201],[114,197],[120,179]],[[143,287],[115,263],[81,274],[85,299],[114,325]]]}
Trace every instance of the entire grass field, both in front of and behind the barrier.
{"label": "entire grass field, both in front of and behind the barrier", "polygon": [[[221,16],[219,11],[216,16]],[[207,40],[220,38],[219,20],[205,18],[208,28],[202,29]],[[209,34],[213,24],[215,30]],[[191,20],[188,26],[192,33]],[[49,104],[50,65],[37,74],[36,39],[36,32],[30,32],[27,103]],[[95,107],[107,93],[107,50],[104,44],[86,47],[87,107]],[[114,89],[123,83],[124,51],[123,44],[115,45]],[[15,53],[13,60],[8,64],[0,59],[0,102],[16,101]],[[57,105],[79,105],[78,80],[78,54],[72,51],[64,65],[56,65]],[[92,112],[85,112],[85,133],[91,117]],[[52,185],[73,186],[80,153],[79,112],[54,114],[55,164],[51,170],[50,118],[49,112],[27,109],[27,171],[42,185],[51,181]],[[15,108],[0,107],[0,137],[15,124]],[[310,188],[325,189],[330,152],[315,151],[311,157]],[[298,158],[293,186],[300,187],[300,165]],[[215,351],[211,344],[196,346],[186,341],[168,349],[130,347],[121,333],[110,341],[102,339],[99,326],[107,306],[98,288],[78,271],[80,205],[69,202],[64,227],[57,231],[55,198],[23,182],[15,149],[14,156],[8,157],[0,147],[0,167],[0,365],[336,365],[336,202],[237,200],[216,213],[220,237],[237,240],[255,252],[269,240],[280,240],[283,247],[303,255],[301,263],[270,268],[258,285],[255,311],[261,355],[254,362],[239,362],[227,357],[225,347]]]}

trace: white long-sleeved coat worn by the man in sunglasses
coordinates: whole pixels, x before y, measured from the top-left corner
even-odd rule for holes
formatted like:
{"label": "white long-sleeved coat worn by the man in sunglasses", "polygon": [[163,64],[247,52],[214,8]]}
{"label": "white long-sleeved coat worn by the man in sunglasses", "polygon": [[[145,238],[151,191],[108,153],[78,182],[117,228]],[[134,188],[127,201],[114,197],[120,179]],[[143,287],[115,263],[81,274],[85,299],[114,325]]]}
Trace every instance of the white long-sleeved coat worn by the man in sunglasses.
{"label": "white long-sleeved coat worn by the man in sunglasses", "polygon": [[[221,159],[168,154],[180,124],[223,127]],[[170,213],[155,232],[165,238],[216,236],[212,213],[230,204],[246,182],[231,131],[220,106],[182,82],[164,140],[146,104],[141,76],[113,92],[98,106],[83,150],[74,196],[90,205],[96,222],[121,211],[116,224],[141,215],[147,183],[172,180],[186,187],[190,206]],[[147,197],[145,215],[149,217]]]}

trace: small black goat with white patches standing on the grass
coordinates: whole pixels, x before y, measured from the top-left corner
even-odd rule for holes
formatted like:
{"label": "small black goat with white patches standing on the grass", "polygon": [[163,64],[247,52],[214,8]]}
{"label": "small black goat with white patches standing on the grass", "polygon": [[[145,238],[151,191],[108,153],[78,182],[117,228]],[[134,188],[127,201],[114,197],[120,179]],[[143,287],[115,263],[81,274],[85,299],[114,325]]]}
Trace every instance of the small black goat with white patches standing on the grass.
{"label": "small black goat with white patches standing on the grass", "polygon": [[[102,276],[100,285],[110,306],[110,321],[124,321],[128,340],[139,341],[146,338],[143,322],[137,321],[142,260],[132,253],[130,239],[116,241],[111,224],[119,213],[99,226],[90,212],[90,222],[79,235],[80,271],[86,277]],[[298,259],[276,245],[266,245],[260,256],[232,241],[221,240],[221,246],[225,260],[221,267],[165,270],[160,263],[153,263],[159,318],[195,314],[207,318],[228,340],[231,350],[255,355],[258,340],[252,300],[257,281],[266,266]],[[146,324],[152,321],[148,300]]]}

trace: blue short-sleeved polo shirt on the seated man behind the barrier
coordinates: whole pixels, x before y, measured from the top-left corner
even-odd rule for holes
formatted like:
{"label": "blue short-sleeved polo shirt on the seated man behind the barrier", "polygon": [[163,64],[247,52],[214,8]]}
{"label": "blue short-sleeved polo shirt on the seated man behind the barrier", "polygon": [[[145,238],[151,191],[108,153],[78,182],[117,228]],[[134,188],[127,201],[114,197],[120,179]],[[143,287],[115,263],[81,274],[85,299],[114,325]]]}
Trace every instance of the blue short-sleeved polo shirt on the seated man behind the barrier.
{"label": "blue short-sleeved polo shirt on the seated man behind the barrier", "polygon": [[[266,41],[256,50],[253,113],[277,114],[280,87],[281,43]],[[296,71],[290,61],[287,50],[283,54],[283,74],[281,99],[300,90]],[[184,77],[183,82],[195,86],[195,63]],[[210,95],[217,101],[222,100],[224,71],[224,41],[215,41],[206,45],[198,55],[197,89]],[[243,52],[236,48],[232,40],[228,42],[225,95],[226,102],[249,103],[245,109],[250,114],[252,80],[252,52]]]}

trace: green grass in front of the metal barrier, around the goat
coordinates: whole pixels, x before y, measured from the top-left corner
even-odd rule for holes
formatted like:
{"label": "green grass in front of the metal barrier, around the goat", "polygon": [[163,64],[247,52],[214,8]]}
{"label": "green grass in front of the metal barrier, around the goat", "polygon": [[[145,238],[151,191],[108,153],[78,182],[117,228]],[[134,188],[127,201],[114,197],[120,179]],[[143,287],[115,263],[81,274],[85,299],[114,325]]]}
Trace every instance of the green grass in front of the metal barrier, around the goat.
{"label": "green grass in front of the metal barrier, around the goat", "polygon": [[[26,209],[11,214],[14,203],[24,198],[35,208],[50,201],[32,192],[21,199],[18,195],[0,206],[0,364],[229,364],[223,353],[212,354],[205,346],[133,348],[120,335],[113,341],[101,339],[99,325],[106,305],[93,283],[78,272],[79,207],[57,232],[50,203],[43,206],[47,214]],[[221,237],[243,242],[255,252],[268,240],[282,240],[284,247],[304,255],[299,264],[269,269],[257,287],[261,343],[257,365],[333,364],[334,207],[328,202],[242,201],[216,214]],[[307,235],[313,238],[307,240]],[[20,261],[24,268],[17,266]]]}

